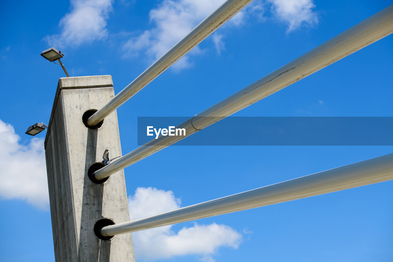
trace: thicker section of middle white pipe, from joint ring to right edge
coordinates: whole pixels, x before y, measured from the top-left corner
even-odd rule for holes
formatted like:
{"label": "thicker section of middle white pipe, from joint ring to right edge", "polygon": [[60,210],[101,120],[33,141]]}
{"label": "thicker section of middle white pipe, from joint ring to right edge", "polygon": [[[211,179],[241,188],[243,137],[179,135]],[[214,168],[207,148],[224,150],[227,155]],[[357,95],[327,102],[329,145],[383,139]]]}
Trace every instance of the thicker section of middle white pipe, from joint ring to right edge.
{"label": "thicker section of middle white pipe, from joint ring to right edge", "polygon": [[203,129],[393,33],[393,5],[194,116]]}

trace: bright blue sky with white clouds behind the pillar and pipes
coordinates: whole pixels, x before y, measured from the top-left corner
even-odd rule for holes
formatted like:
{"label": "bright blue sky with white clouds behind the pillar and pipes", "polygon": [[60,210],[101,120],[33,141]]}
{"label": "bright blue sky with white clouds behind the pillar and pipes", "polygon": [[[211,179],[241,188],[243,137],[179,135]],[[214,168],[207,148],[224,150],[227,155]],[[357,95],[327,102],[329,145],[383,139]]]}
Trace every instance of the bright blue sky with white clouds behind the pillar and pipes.
{"label": "bright blue sky with white clouds behind the pillar and pipes", "polygon": [[[64,72],[112,75],[117,94],[222,0],[3,1],[0,208],[4,261],[53,261],[43,151]],[[118,109],[123,154],[138,116],[192,116],[390,1],[255,0]],[[392,116],[392,35],[233,116]],[[201,131],[202,132],[202,131]],[[365,138],[367,139],[367,138]],[[158,213],[391,153],[392,146],[172,146],[125,169],[130,209]],[[393,181],[133,234],[137,261],[391,261]],[[149,201],[140,201],[147,197]],[[156,199],[162,203],[157,205]],[[132,213],[132,218],[147,212]],[[186,236],[186,237],[184,237]],[[184,243],[163,246],[165,240]],[[187,240],[187,242],[185,242]]]}

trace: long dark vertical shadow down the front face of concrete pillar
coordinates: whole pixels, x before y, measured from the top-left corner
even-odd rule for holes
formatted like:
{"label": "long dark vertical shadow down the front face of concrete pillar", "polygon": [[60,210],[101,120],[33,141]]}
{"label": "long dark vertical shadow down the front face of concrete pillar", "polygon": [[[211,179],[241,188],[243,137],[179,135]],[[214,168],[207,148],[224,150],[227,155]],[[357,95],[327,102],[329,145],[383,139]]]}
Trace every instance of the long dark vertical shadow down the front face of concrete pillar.
{"label": "long dark vertical shadow down the front face of concrete pillar", "polygon": [[[110,258],[111,240],[100,240],[94,234],[94,225],[102,217],[102,197],[104,184],[93,183],[88,175],[89,167],[95,163],[97,153],[98,129],[88,129],[86,162],[83,180],[83,199],[81,209],[81,231],[79,233],[79,261],[106,262]],[[103,152],[102,152],[103,153]],[[101,159],[100,156],[98,156]],[[82,240],[82,241],[81,241]]]}

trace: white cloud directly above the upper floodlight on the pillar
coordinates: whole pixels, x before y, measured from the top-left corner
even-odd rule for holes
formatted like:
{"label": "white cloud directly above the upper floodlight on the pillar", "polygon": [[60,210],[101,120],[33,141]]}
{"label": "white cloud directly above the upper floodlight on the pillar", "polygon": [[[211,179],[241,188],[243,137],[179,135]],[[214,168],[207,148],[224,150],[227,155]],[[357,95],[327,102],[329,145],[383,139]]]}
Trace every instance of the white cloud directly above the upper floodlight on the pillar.
{"label": "white cloud directly above the upper floodlight on the pillar", "polygon": [[61,34],[46,37],[50,46],[77,46],[108,36],[107,19],[113,0],[71,0],[71,12],[61,18]]}

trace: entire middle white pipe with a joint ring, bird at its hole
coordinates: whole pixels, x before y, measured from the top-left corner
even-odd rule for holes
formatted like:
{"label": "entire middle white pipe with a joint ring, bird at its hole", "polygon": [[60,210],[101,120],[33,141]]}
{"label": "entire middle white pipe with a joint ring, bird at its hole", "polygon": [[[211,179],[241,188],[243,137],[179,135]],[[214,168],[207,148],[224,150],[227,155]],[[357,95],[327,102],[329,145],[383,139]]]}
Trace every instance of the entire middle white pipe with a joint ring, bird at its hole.
{"label": "entire middle white pipe with a joint ring, bird at its hole", "polygon": [[97,180],[108,177],[391,33],[393,5],[178,125],[176,128],[186,129],[185,136],[161,136],[153,139],[118,161],[97,170],[94,176]]}

